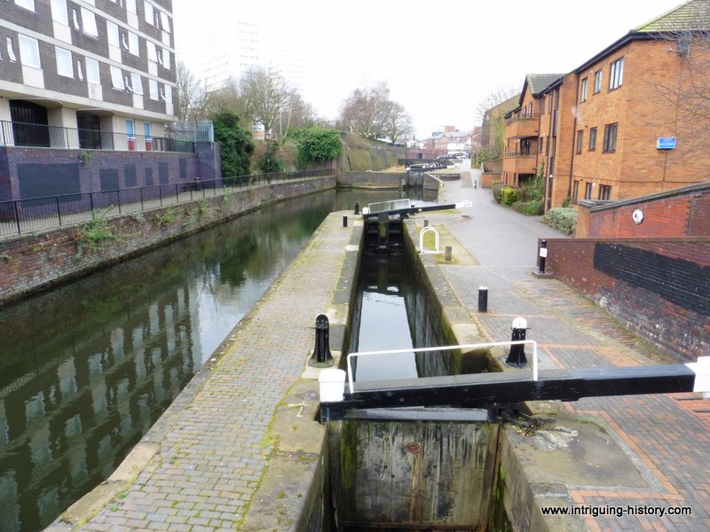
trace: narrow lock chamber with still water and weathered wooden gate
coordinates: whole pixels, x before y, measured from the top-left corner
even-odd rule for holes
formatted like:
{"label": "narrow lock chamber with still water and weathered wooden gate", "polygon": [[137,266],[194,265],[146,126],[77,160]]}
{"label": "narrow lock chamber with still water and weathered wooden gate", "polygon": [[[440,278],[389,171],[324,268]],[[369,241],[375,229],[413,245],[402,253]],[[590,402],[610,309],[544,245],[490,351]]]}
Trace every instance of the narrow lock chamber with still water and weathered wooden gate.
{"label": "narrow lock chamber with still water and weathered wooden gate", "polygon": [[[370,232],[380,239],[379,231]],[[390,231],[389,253],[368,246],[365,228],[344,343],[350,353],[457,343],[405,233]],[[490,356],[461,351],[363,357],[353,365],[356,381],[499,371]],[[500,434],[500,422],[462,409],[356,411],[329,421],[325,492],[333,528],[510,529]]]}

